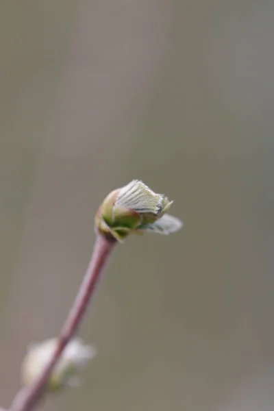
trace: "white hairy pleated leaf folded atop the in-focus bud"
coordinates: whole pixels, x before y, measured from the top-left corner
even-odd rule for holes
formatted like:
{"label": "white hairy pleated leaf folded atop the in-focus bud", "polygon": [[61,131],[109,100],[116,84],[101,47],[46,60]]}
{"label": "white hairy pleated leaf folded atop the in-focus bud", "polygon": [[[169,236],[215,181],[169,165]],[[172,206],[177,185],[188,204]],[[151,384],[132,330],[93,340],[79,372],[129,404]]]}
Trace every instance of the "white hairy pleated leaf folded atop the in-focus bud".
{"label": "white hairy pleated leaf folded atop the in-focus bud", "polygon": [[119,206],[135,210],[140,213],[158,214],[163,201],[161,194],[156,194],[140,180],[132,180],[121,188],[114,208]]}

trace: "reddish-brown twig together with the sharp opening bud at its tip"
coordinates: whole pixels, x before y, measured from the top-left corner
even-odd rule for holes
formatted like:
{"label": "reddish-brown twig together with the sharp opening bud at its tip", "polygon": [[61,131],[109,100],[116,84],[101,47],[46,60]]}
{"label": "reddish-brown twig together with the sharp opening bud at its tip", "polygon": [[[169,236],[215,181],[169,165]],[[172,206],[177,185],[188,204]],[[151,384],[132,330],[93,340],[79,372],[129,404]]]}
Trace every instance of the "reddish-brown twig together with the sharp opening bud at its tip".
{"label": "reddish-brown twig together with the sharp opening bud at its tip", "polygon": [[[116,244],[132,233],[154,232],[171,234],[182,227],[182,221],[166,214],[172,201],[153,192],[140,180],[132,180],[108,194],[95,216],[97,240],[78,295],[57,339],[49,363],[28,388],[23,388],[12,402],[9,411],[32,411],[47,393],[47,382],[64,348],[77,332],[88,301],[92,297],[103,267]],[[1,411],[1,410],[0,410]]]}

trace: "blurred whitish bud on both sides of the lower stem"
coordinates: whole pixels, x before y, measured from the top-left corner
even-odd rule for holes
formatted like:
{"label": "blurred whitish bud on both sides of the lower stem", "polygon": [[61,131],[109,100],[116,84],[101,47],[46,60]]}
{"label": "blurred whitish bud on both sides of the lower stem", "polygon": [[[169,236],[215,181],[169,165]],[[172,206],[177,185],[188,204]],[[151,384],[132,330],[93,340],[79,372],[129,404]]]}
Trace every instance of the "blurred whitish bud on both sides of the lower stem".
{"label": "blurred whitish bud on both sides of the lower stem", "polygon": [[[51,359],[56,343],[57,339],[51,338],[29,347],[21,369],[22,382],[25,386],[32,384],[40,375]],[[79,371],[94,356],[95,349],[90,345],[84,345],[79,338],[71,340],[51,373],[47,389],[49,391],[59,391],[65,386],[79,385]]]}

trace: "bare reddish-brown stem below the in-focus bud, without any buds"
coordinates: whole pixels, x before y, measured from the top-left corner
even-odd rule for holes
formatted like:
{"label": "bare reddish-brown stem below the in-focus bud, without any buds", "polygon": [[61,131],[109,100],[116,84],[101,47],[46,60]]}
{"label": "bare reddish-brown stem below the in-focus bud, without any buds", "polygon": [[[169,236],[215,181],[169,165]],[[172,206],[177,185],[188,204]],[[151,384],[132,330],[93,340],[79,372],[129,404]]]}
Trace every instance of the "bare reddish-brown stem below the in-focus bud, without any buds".
{"label": "bare reddish-brown stem below the in-focus bud, without any buds", "polygon": [[49,379],[55,364],[58,362],[66,345],[69,343],[71,338],[75,336],[75,333],[82,322],[86,308],[88,307],[88,302],[94,294],[95,286],[101,276],[103,267],[105,266],[114,245],[115,240],[112,238],[106,238],[101,236],[101,234],[97,235],[92,256],[90,258],[90,263],[88,264],[88,269],[86,270],[86,275],[84,276],[82,284],[79,288],[79,292],[73,303],[73,307],[69,312],[69,316],[61,329],[55,352],[34,384],[27,388],[23,388],[23,390],[16,395],[14,401],[12,402],[12,406],[10,407],[10,411],[30,411],[40,401],[44,393],[47,380]]}

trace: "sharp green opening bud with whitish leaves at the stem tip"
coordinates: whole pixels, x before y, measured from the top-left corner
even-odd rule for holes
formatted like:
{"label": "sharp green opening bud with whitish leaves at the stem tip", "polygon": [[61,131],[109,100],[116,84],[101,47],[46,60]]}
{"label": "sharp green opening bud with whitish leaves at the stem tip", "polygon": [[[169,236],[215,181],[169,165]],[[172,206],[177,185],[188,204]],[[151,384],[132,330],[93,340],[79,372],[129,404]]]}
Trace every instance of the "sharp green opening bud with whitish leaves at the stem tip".
{"label": "sharp green opening bud with whitish leaves at the stem tip", "polygon": [[172,203],[140,180],[133,180],[105,197],[95,216],[95,227],[120,242],[131,233],[171,234],[182,227],[182,221],[166,214]]}

